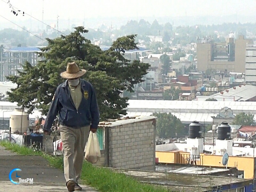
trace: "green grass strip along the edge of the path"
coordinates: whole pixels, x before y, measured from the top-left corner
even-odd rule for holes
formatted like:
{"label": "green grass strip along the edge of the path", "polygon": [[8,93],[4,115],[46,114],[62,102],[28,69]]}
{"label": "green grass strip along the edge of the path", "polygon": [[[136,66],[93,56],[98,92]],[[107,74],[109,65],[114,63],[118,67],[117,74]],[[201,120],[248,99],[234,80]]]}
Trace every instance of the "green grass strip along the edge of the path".
{"label": "green grass strip along the edge of the path", "polygon": [[[51,166],[63,170],[63,158],[61,157],[53,157],[41,151],[33,151],[31,148],[10,142],[1,141],[0,145],[19,155],[42,156],[48,160]],[[86,161],[83,163],[81,180],[84,184],[102,192],[170,192],[164,187],[142,184],[124,173],[114,172],[104,167],[95,167]]]}

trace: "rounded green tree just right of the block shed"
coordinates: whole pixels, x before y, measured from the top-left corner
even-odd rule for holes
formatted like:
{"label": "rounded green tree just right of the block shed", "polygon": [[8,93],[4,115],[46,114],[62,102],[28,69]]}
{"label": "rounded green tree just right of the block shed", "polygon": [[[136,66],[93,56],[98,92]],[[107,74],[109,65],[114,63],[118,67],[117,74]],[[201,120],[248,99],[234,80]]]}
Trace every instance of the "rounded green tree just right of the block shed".
{"label": "rounded green tree just right of the block shed", "polygon": [[181,120],[171,113],[154,113],[156,116],[156,130],[159,138],[171,138],[185,134]]}

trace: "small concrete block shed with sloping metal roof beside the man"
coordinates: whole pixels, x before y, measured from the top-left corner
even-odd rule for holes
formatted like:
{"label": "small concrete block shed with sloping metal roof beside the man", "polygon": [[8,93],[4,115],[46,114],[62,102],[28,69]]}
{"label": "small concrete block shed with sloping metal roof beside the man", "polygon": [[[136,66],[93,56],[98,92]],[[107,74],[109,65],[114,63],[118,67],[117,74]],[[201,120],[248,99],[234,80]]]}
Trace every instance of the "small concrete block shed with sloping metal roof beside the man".
{"label": "small concrete block shed with sloping metal roof beside the man", "polygon": [[100,122],[99,166],[155,170],[155,116]]}

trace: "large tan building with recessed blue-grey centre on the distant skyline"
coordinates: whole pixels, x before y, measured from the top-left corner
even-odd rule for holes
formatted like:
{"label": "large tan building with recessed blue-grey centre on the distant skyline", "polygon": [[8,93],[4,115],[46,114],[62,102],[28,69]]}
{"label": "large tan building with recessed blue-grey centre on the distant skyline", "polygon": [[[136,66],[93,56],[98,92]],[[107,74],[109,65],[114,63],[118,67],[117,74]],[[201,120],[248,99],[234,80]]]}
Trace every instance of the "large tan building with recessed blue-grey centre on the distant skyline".
{"label": "large tan building with recessed blue-grey centre on the distant skyline", "polygon": [[240,35],[227,38],[226,43],[213,43],[210,39],[199,39],[197,42],[197,69],[206,71],[245,72],[246,45],[253,44],[252,39]]}

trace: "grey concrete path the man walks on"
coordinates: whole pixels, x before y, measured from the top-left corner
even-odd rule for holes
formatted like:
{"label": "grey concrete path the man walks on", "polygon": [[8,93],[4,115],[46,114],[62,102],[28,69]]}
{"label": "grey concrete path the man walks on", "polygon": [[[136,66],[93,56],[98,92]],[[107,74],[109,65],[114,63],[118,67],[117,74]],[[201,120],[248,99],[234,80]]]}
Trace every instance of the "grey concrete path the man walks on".
{"label": "grey concrete path the man walks on", "polygon": [[[13,184],[9,180],[9,173],[12,169],[17,171],[19,178],[33,178],[33,184]],[[12,180],[19,182],[16,172],[12,173]],[[97,192],[95,189],[80,185],[83,191]],[[47,160],[38,156],[16,155],[0,146],[0,192],[65,192],[64,174],[61,170],[48,165]]]}

